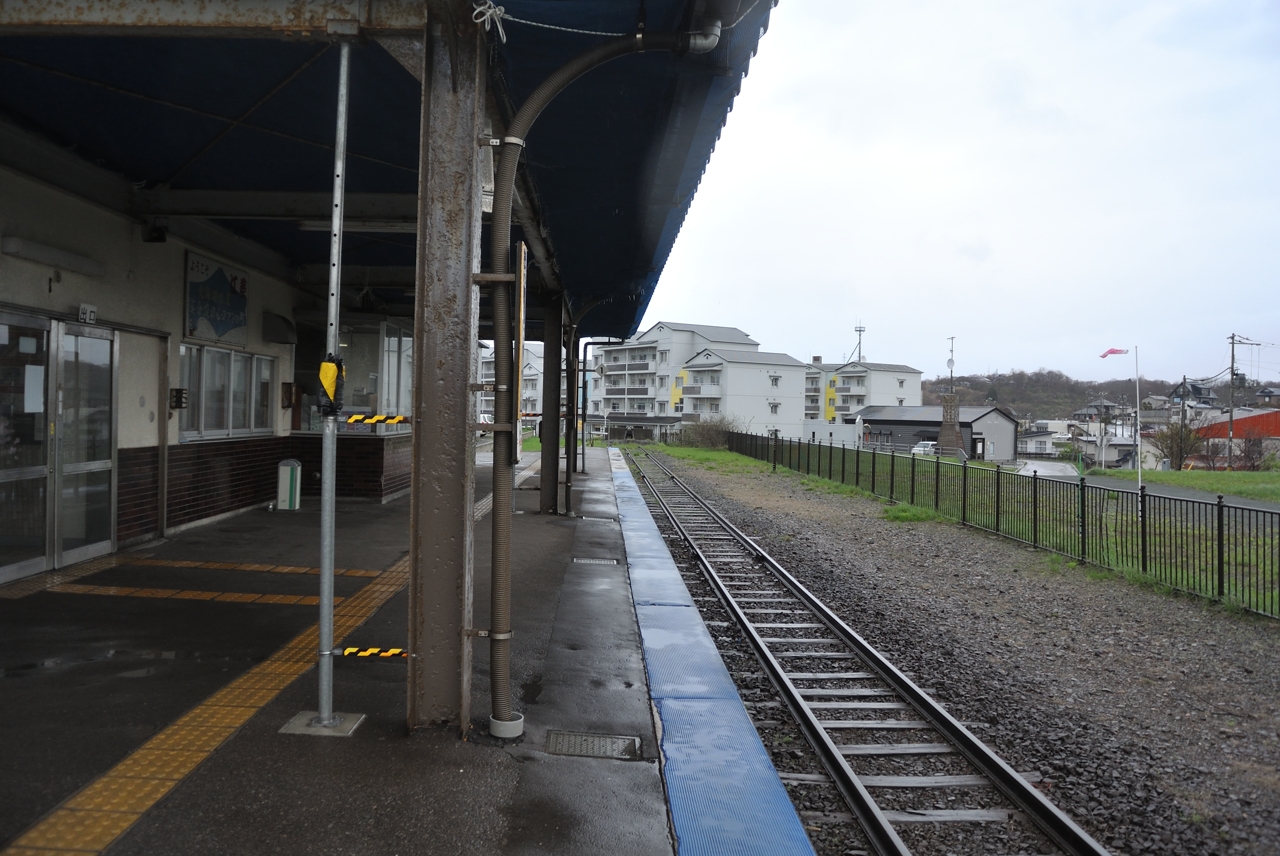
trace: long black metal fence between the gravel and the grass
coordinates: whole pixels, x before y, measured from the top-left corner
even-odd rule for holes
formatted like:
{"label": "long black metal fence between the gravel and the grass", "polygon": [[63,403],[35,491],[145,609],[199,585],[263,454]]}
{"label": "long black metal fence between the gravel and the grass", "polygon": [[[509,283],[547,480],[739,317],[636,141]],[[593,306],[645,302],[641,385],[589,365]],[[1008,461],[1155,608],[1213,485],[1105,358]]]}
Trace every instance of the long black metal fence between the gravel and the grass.
{"label": "long black metal fence between the gravel and the grass", "polygon": [[851,485],[1080,562],[1280,618],[1280,512],[998,466],[730,434],[731,452]]}

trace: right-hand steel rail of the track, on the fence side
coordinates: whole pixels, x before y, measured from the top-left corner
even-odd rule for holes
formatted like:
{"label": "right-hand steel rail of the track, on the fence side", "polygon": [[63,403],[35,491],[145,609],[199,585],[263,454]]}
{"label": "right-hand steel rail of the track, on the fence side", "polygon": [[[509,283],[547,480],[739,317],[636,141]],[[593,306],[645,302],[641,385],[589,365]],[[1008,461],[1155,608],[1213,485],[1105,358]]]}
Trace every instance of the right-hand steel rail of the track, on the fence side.
{"label": "right-hand steel rail of the track, on the fence side", "polygon": [[[915,682],[902,674],[867,640],[859,636],[852,628],[810,592],[799,580],[783,568],[764,548],[739,530],[724,518],[707,500],[689,487],[675,472],[660,461],[645,456],[653,461],[690,499],[698,503],[717,523],[731,534],[745,549],[751,551],[760,562],[767,564],[774,576],[786,586],[792,595],[801,600],[813,610],[827,627],[836,633],[845,644],[852,647],[865,663],[899,692],[913,708],[916,709],[928,723],[948,740],[965,759],[973,764],[983,775],[1005,795],[1019,810],[1021,810],[1036,827],[1044,833],[1055,844],[1071,856],[1110,856],[1110,852],[1093,839],[1087,832],[1080,829],[1061,809],[1044,798],[1034,786],[1020,777],[1009,764],[975,737],[968,728],[956,720],[942,705],[934,701]],[[637,466],[639,470],[639,466]],[[641,471],[643,475],[643,471]],[[645,481],[649,479],[645,476]],[[657,495],[657,491],[654,491]]]}

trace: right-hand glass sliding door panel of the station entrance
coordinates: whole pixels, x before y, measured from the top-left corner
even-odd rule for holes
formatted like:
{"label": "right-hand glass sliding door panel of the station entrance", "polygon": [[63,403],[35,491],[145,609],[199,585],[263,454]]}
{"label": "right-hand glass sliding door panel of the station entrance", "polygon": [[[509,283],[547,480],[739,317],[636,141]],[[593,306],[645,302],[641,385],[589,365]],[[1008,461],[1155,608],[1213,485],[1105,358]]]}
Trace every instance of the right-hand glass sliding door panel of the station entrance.
{"label": "right-hand glass sliding door panel of the station entrance", "polygon": [[115,540],[115,335],[61,328],[56,426],[55,564],[110,553]]}

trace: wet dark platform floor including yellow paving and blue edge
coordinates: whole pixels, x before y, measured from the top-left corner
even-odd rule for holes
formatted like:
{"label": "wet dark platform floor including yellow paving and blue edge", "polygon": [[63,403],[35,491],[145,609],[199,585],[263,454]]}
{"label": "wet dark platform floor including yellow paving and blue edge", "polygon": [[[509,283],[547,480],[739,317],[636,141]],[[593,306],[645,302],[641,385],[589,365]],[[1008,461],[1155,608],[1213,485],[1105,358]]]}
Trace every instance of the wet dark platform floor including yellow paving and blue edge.
{"label": "wet dark platform floor including yellow paving and blue edge", "polygon": [[[522,466],[535,459],[526,454]],[[778,818],[753,802],[753,788],[773,798],[781,786],[727,673],[714,674],[723,664],[713,646],[714,663],[707,659],[709,637],[689,621],[696,612],[657,531],[625,534],[646,517],[630,473],[603,449],[589,450],[588,470],[575,476],[577,518],[538,514],[536,480],[515,491],[512,677],[526,722],[516,741],[486,734],[484,640],[467,741],[457,725],[406,729],[398,656],[337,660],[334,708],[366,717],[352,737],[280,733],[316,706],[312,508],[250,512],[0,589],[0,847],[24,856],[658,855],[678,839],[682,853],[812,852],[790,802],[765,804]],[[477,496],[490,481],[477,468]],[[407,498],[339,503],[343,645],[404,645],[407,512]],[[475,544],[479,627],[488,626],[485,521]],[[637,624],[632,545],[641,615],[680,610],[700,659],[667,647],[676,656],[654,672],[659,630]],[[713,697],[672,692],[673,668],[696,672]],[[639,759],[553,755],[550,731],[636,737]],[[703,763],[704,747],[719,766]],[[749,761],[755,784],[721,788],[708,805],[728,755]],[[758,838],[753,815],[782,837]]]}

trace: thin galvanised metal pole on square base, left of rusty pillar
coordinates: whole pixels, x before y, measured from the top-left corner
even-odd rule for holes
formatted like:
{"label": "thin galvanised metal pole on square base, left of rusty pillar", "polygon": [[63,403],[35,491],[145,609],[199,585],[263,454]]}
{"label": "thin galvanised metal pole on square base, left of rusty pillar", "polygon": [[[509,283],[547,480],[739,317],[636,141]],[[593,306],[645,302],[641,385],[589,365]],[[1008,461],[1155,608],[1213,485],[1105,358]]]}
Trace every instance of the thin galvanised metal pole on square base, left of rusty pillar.
{"label": "thin galvanised metal pole on square base, left of rusty pillar", "polygon": [[[342,310],[342,207],[347,178],[347,100],[351,83],[351,42],[339,46],[338,128],[333,143],[333,224],[329,234],[329,325],[325,352],[338,356],[338,313]],[[333,728],[333,539],[338,489],[338,415],[321,422],[320,438],[320,708],[314,725]]]}

